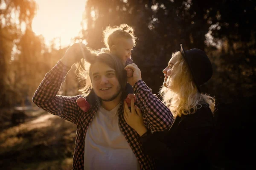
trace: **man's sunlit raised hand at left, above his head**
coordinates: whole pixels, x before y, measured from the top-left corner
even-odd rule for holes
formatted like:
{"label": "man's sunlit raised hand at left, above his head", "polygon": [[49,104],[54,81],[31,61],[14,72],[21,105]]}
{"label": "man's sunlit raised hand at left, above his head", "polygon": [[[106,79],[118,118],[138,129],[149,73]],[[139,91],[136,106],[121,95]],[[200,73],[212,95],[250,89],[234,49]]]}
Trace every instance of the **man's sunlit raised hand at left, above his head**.
{"label": "man's sunlit raised hand at left, above his head", "polygon": [[81,58],[83,58],[86,53],[88,53],[88,50],[85,44],[81,42],[75,43],[71,45],[69,48],[67,48],[64,57],[61,58],[61,62],[64,65],[71,67]]}

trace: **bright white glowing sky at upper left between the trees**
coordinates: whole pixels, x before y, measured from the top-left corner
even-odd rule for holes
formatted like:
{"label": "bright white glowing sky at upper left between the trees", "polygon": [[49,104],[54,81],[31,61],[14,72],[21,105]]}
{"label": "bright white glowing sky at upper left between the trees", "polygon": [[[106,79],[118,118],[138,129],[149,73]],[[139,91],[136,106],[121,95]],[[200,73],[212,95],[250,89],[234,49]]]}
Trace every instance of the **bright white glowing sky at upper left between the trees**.
{"label": "bright white glowing sky at upper left between the trees", "polygon": [[45,43],[61,37],[61,46],[70,45],[70,39],[81,30],[82,14],[86,0],[35,0],[37,14],[32,22],[36,35],[42,34]]}

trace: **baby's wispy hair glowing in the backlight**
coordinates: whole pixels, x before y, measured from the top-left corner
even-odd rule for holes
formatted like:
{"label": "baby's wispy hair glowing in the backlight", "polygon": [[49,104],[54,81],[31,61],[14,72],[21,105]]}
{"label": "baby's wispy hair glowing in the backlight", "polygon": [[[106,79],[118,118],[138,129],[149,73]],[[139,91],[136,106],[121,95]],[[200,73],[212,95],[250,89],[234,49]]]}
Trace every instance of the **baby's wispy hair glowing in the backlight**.
{"label": "baby's wispy hair glowing in the backlight", "polygon": [[137,37],[134,35],[134,29],[127,24],[121,24],[120,26],[107,26],[103,31],[105,46],[110,50],[112,45],[118,43],[119,38],[131,38],[136,45]]}

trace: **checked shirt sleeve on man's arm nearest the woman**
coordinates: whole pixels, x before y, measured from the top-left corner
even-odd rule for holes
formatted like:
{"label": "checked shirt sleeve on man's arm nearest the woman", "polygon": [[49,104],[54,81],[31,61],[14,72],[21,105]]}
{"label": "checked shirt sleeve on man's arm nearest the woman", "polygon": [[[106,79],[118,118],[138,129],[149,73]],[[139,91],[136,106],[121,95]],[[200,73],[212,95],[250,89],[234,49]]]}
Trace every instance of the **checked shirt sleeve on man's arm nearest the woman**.
{"label": "checked shirt sleeve on man's arm nearest the woman", "polygon": [[151,92],[143,80],[136,82],[133,88],[146,127],[152,131],[168,129],[173,122],[173,115],[169,108]]}

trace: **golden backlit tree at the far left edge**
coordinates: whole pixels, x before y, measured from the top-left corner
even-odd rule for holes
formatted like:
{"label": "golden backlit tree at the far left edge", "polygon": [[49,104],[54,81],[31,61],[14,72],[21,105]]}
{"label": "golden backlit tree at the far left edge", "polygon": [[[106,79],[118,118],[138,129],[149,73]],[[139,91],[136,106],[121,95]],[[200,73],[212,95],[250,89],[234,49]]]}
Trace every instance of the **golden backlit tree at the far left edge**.
{"label": "golden backlit tree at the far left edge", "polygon": [[10,62],[15,60],[16,44],[19,42],[24,29],[31,28],[35,15],[35,1],[32,0],[0,0],[0,106],[10,105],[11,96],[16,92],[10,88]]}

